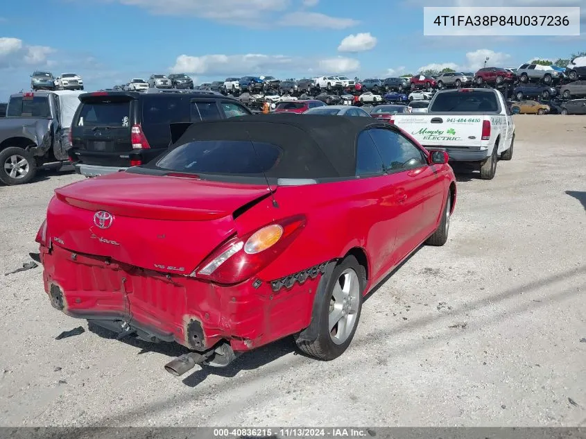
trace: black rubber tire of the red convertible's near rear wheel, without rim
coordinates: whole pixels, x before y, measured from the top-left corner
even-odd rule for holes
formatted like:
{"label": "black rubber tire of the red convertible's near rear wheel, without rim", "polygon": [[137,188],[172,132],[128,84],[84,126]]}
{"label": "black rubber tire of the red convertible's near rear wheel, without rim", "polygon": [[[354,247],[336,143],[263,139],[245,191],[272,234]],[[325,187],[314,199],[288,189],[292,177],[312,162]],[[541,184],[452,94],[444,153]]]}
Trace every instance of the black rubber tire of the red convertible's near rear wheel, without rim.
{"label": "black rubber tire of the red convertible's near rear wheel, without rim", "polygon": [[[347,269],[352,269],[358,275],[358,279],[360,282],[360,291],[358,297],[358,309],[356,310],[356,322],[354,323],[354,328],[348,336],[347,340],[342,343],[341,345],[337,345],[334,341],[331,340],[330,332],[329,332],[329,306],[331,302],[331,293],[334,290],[334,285],[338,282],[338,278],[342,275],[342,273]],[[362,310],[362,293],[366,286],[366,270],[363,266],[361,266],[354,256],[347,256],[343,261],[341,261],[335,268],[334,271],[331,273],[331,277],[327,279],[327,286],[325,294],[321,295],[321,297],[316,297],[316,300],[320,300],[318,303],[318,309],[320,313],[320,327],[318,329],[318,338],[315,341],[298,341],[297,337],[295,336],[295,343],[297,343],[299,349],[309,356],[313,356],[313,358],[322,360],[322,361],[330,361],[336,359],[338,356],[344,353],[347,347],[352,342],[352,338],[354,338],[354,334],[356,333],[356,328],[360,322],[360,313]]]}

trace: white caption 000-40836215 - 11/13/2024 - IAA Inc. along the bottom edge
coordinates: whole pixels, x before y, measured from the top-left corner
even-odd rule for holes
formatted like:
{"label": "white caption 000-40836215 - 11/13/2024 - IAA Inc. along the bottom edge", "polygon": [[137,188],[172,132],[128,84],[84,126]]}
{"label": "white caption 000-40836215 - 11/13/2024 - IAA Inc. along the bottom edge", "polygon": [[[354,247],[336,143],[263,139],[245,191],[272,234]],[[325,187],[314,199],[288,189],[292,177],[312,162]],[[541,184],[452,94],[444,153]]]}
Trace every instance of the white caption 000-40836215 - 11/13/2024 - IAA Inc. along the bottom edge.
{"label": "white caption 000-40836215 - 11/13/2024 - IAA Inc. along the bottom edge", "polygon": [[214,438],[369,438],[376,433],[366,428],[333,427],[333,428],[227,428],[214,429]]}

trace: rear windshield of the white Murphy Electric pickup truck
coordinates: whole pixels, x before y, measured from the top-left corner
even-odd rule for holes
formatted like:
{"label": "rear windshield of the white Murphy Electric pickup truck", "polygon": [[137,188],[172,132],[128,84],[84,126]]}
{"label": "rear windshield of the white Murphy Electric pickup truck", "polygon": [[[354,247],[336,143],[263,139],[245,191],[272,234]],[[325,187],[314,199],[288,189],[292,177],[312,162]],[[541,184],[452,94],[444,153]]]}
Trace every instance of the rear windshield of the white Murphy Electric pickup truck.
{"label": "rear windshield of the white Murphy Electric pickup truck", "polygon": [[436,94],[430,112],[498,112],[499,101],[492,92],[449,92]]}

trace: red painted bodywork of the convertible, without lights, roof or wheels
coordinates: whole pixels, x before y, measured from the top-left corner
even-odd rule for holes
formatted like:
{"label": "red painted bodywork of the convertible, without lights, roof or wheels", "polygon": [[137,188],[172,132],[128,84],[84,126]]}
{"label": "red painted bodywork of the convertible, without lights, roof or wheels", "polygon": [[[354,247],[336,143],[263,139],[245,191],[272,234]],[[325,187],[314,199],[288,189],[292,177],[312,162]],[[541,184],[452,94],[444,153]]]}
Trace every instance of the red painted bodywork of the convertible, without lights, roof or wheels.
{"label": "red painted bodywork of the convertible, without lights, roof or wheels", "polygon": [[[192,349],[225,340],[234,351],[250,350],[307,328],[319,268],[352,249],[363,251],[368,261],[363,292],[368,293],[437,229],[451,184],[454,209],[449,164],[273,186],[275,209],[262,184],[132,173],[83,180],[55,190],[37,234],[44,289],[53,306],[61,300],[60,309],[69,316],[98,320],[128,314],[149,334]],[[251,202],[254,207],[234,214]],[[100,210],[112,214],[115,227],[94,223]],[[232,236],[247,236],[300,212],[304,223],[298,235],[243,282],[221,285],[189,275]],[[275,279],[300,272],[311,275],[286,289],[272,287]],[[193,322],[202,327],[198,347],[189,338]]]}

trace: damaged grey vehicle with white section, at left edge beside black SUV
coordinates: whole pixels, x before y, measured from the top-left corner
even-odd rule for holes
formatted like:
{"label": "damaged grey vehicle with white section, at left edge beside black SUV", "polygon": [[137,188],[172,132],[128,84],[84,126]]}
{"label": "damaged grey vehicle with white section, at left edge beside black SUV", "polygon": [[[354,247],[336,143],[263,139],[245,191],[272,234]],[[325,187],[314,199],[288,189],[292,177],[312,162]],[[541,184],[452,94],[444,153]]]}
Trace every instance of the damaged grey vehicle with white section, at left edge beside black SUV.
{"label": "damaged grey vehicle with white section, at left edge beside black SUV", "polygon": [[39,166],[67,162],[69,127],[80,92],[16,93],[0,120],[0,182],[30,182]]}

